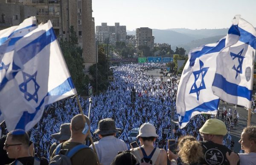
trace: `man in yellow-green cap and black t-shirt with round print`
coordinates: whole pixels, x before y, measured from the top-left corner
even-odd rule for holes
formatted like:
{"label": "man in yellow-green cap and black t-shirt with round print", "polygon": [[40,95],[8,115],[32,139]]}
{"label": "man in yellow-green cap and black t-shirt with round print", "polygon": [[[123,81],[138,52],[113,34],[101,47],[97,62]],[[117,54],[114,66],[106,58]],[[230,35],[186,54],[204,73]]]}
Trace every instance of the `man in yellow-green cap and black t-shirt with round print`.
{"label": "man in yellow-green cap and black t-shirt with round print", "polygon": [[204,141],[201,143],[204,159],[201,164],[207,165],[230,165],[226,153],[233,152],[223,145],[223,138],[227,134],[224,122],[219,119],[208,119],[199,129]]}

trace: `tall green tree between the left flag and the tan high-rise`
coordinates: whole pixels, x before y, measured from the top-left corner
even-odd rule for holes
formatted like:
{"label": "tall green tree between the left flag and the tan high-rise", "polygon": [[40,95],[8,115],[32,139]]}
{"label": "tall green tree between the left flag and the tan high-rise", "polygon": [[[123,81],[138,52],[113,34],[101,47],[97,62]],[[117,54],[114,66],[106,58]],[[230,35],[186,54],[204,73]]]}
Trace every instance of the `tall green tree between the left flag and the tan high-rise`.
{"label": "tall green tree between the left flag and the tan high-rise", "polygon": [[83,51],[78,46],[78,38],[73,26],[70,26],[69,40],[61,40],[60,46],[76,90],[78,94],[84,94],[89,83],[89,77],[84,75]]}

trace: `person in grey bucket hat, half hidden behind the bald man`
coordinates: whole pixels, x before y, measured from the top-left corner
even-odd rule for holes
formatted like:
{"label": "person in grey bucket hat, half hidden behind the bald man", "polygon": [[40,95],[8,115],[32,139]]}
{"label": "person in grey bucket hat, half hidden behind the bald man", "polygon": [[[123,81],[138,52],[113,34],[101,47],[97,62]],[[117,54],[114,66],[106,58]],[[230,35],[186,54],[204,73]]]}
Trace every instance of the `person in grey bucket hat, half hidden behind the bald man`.
{"label": "person in grey bucket hat, half hidden behind the bald man", "polygon": [[52,153],[58,144],[66,142],[68,139],[70,139],[70,136],[71,136],[70,123],[61,124],[60,132],[58,132],[56,134],[52,134],[51,136],[52,136],[52,138],[58,140],[59,143],[54,142],[51,145],[50,156],[52,156]]}

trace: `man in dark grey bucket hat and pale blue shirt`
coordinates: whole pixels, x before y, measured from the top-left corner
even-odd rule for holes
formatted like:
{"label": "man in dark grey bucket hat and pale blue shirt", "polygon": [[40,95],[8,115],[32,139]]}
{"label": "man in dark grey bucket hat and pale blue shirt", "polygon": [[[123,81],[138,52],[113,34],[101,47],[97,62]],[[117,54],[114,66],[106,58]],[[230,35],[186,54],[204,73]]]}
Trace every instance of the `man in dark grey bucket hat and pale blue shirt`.
{"label": "man in dark grey bucket hat and pale blue shirt", "polygon": [[[116,128],[113,119],[102,119],[99,121],[98,129],[93,134],[99,135],[99,141],[94,142],[99,162],[102,165],[110,165],[114,157],[120,151],[128,150],[127,145],[121,139],[117,139],[116,132],[120,129]],[[92,148],[92,145],[90,145]]]}

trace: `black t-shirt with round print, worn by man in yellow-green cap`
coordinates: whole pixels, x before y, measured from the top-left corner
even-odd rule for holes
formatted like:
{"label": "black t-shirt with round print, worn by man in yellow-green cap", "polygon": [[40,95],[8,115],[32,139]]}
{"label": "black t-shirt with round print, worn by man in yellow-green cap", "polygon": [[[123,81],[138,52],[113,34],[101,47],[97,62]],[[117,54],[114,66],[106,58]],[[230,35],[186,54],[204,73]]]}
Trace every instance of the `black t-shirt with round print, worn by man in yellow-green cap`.
{"label": "black t-shirt with round print, worn by man in yellow-green cap", "polygon": [[[219,145],[211,141],[201,142],[204,152],[204,159],[201,160],[201,164],[207,165],[230,165],[227,160],[226,153],[233,152],[225,145]],[[239,162],[238,162],[239,165]]]}

